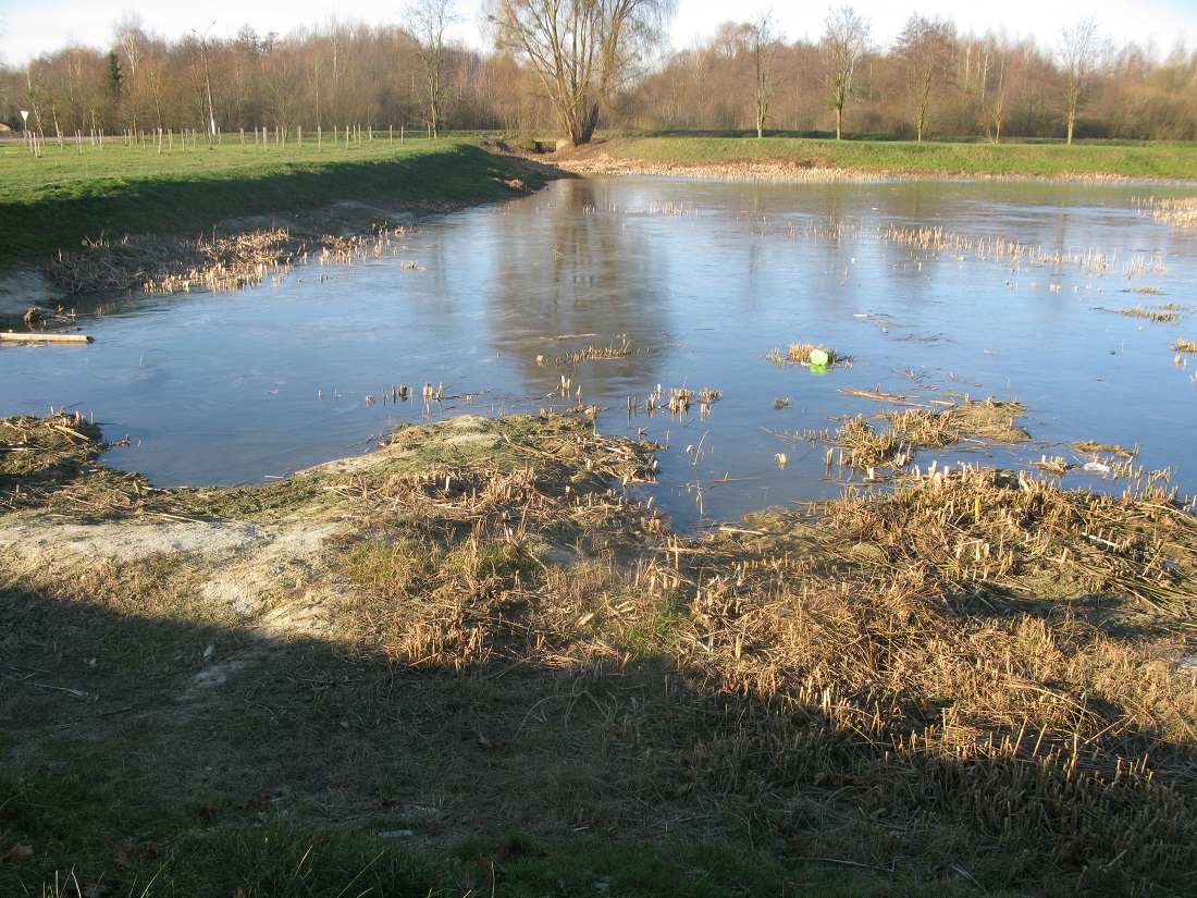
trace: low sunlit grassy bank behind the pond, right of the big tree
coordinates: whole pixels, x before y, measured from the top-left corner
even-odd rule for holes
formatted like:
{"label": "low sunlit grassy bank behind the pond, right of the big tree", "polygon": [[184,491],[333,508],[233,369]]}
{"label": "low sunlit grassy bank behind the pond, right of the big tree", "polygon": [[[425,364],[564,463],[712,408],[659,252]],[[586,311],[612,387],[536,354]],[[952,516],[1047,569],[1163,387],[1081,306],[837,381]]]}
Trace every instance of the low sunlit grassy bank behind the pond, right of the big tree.
{"label": "low sunlit grassy bank behind the pond, right of the big tree", "polygon": [[1197,145],[961,144],[790,136],[620,136],[578,153],[685,166],[743,163],[920,177],[1197,180]]}

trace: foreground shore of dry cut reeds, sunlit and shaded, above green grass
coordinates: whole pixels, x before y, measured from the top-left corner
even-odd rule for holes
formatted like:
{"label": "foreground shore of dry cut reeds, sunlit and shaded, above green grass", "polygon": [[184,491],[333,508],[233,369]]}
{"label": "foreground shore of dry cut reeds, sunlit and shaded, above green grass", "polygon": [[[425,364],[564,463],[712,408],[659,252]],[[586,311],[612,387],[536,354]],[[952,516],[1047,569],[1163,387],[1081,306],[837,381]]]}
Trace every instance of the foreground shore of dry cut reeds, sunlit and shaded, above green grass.
{"label": "foreground shore of dry cut reeds, sunlit and shaded, above green grass", "polygon": [[[1197,521],[1173,496],[961,468],[682,538],[614,489],[652,449],[559,417],[412,427],[269,487],[130,490],[121,517],[282,535],[83,569],[30,550],[60,518],[0,516],[26,534],[0,542],[8,762],[69,718],[55,751],[136,745],[164,801],[226,813],[1193,885]],[[254,558],[271,585],[226,607],[212,584]],[[62,639],[84,625],[98,666]]]}

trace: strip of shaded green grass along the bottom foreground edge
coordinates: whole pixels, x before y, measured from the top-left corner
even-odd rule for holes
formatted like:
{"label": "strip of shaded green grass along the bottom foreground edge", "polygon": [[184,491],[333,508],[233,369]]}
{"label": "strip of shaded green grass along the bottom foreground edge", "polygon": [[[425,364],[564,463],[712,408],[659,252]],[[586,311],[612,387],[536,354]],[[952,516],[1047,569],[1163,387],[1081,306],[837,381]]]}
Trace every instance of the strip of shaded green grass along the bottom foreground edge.
{"label": "strip of shaded green grass along the bottom foreground edge", "polygon": [[[61,757],[61,756],[60,756]],[[5,896],[105,898],[388,896],[502,898],[655,896],[724,898],[788,892],[834,898],[974,896],[954,874],[889,874],[836,858],[788,861],[749,844],[670,845],[614,833],[478,833],[452,845],[424,838],[420,821],[378,815],[347,823],[251,807],[164,808],[136,771],[84,757],[40,770],[0,771]],[[412,837],[381,836],[407,830]],[[801,854],[796,850],[795,854]]]}

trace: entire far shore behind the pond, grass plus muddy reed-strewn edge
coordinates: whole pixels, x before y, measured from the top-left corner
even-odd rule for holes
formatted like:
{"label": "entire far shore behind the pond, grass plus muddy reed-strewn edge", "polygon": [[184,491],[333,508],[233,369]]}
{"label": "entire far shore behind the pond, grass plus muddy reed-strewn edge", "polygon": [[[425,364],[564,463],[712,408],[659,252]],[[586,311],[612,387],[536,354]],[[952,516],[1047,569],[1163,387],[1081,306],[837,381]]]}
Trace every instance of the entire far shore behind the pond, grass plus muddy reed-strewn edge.
{"label": "entire far shore behind the pond, grass plus muddy reed-strewn edge", "polygon": [[[169,290],[181,272],[202,280],[203,263],[196,267],[195,257],[203,255],[198,248],[209,235],[215,242],[218,236],[250,238],[273,231],[284,232],[292,245],[328,245],[379,226],[509,200],[569,176],[777,183],[915,177],[1197,183],[1197,145],[1186,144],[1070,147],[615,135],[536,152],[549,142],[493,135],[399,148],[379,140],[318,156],[310,147],[284,145],[249,165],[244,153],[226,146],[205,156],[199,174],[180,158],[130,157],[121,145],[109,145],[85,156],[55,158],[53,194],[44,190],[45,160],[0,154],[0,176],[11,175],[0,177],[7,184],[0,188],[0,326],[19,324],[32,307],[71,309],[74,297],[87,290]],[[193,151],[192,159],[195,156]],[[134,175],[128,174],[130,165]],[[128,188],[98,189],[109,175],[127,178]],[[156,259],[158,267],[150,271],[130,269],[127,283],[120,271],[108,284],[81,285],[61,274],[87,268],[101,256],[111,263],[113,247],[141,241],[153,243],[157,253],[176,238],[177,259]]]}

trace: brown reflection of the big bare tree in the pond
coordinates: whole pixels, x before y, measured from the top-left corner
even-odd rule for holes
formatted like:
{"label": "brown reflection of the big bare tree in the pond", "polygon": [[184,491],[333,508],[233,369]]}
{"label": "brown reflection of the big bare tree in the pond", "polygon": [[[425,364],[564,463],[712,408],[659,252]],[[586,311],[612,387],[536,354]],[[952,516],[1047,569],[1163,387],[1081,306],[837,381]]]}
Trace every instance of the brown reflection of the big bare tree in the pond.
{"label": "brown reflection of the big bare tree in the pond", "polygon": [[619,346],[622,335],[628,354],[587,363],[575,383],[634,392],[658,376],[670,342],[667,254],[612,211],[609,194],[603,183],[559,182],[517,204],[502,231],[486,295],[491,341],[529,382],[555,381],[573,368],[558,369],[557,357]]}

